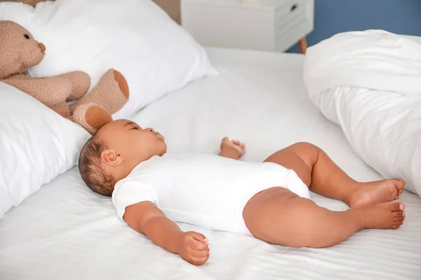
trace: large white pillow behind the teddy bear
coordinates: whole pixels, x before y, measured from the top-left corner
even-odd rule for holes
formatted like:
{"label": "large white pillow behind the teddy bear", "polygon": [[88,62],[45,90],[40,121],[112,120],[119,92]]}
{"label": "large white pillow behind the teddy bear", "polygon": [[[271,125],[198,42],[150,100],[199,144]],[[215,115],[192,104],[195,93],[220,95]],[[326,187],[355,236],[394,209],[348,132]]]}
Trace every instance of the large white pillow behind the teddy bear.
{"label": "large white pillow behind the teddy bear", "polygon": [[[33,76],[82,70],[95,85],[109,68],[123,73],[131,96],[114,118],[127,118],[215,73],[201,45],[151,0],[56,0],[38,3],[32,11],[15,3],[0,5],[8,9],[7,16],[0,15],[15,17],[46,45],[46,57],[30,69]],[[29,20],[22,15],[28,13]]]}

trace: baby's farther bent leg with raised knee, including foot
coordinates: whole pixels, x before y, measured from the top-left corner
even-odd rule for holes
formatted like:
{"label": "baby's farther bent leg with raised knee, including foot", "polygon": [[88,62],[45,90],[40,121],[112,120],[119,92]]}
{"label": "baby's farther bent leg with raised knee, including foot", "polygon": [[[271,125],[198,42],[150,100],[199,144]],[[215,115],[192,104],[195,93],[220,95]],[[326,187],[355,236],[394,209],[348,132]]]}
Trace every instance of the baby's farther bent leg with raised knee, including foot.
{"label": "baby's farther bent leg with raised knee, including foot", "polygon": [[405,182],[396,179],[368,183],[354,181],[321,148],[309,143],[288,146],[265,162],[293,169],[314,193],[342,200],[350,207],[396,200],[405,185]]}

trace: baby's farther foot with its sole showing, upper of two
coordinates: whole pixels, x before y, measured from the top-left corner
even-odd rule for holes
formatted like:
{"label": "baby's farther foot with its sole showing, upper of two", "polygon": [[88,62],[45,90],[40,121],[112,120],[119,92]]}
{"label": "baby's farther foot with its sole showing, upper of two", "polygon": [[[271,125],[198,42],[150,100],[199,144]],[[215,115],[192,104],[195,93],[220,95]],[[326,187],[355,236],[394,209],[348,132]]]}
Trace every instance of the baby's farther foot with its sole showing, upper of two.
{"label": "baby's farther foot with its sole showing, upper of two", "polygon": [[397,200],[403,192],[405,182],[397,179],[359,183],[348,195],[349,207],[358,208]]}

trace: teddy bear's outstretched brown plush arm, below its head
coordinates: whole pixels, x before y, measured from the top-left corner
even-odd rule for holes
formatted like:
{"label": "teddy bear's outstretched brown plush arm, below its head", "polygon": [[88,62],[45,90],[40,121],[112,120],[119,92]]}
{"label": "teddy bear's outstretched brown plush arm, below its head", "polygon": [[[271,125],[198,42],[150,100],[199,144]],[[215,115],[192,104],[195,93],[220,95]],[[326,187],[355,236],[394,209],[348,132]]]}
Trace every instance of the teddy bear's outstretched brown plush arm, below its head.
{"label": "teddy bear's outstretched brown plush arm, below its head", "polygon": [[26,92],[48,107],[64,102],[72,92],[72,83],[66,78],[9,78],[2,81]]}

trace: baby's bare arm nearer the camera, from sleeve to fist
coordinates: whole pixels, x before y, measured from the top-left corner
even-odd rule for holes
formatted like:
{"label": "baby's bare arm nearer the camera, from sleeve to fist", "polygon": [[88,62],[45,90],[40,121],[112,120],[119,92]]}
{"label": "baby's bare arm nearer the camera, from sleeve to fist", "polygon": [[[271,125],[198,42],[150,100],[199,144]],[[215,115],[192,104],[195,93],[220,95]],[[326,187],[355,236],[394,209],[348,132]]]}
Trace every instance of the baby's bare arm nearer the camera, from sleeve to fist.
{"label": "baby's bare arm nearer the camera, from sleeve to fist", "polygon": [[152,202],[126,207],[124,221],[161,248],[180,255],[193,265],[203,265],[209,258],[208,239],[198,232],[182,232]]}

